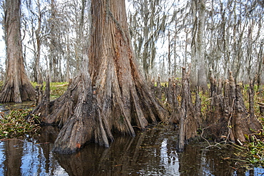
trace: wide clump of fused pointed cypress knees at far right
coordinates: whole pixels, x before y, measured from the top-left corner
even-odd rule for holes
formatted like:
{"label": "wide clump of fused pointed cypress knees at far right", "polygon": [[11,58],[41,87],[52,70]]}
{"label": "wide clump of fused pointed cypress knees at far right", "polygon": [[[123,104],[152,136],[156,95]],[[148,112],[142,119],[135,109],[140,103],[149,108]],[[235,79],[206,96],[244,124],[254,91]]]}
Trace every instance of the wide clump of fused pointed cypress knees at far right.
{"label": "wide clump of fused pointed cypress knees at far right", "polygon": [[224,137],[241,143],[245,142],[245,135],[253,133],[252,130],[262,129],[253,110],[250,110],[251,115],[248,114],[243,95],[240,93],[240,86],[235,85],[231,72],[229,80],[225,81],[224,95],[221,95],[220,82],[218,88],[216,88],[216,81],[211,81],[211,84],[213,84],[211,87],[218,91],[212,93],[211,110],[207,118],[207,126],[209,126],[207,135],[215,140]]}

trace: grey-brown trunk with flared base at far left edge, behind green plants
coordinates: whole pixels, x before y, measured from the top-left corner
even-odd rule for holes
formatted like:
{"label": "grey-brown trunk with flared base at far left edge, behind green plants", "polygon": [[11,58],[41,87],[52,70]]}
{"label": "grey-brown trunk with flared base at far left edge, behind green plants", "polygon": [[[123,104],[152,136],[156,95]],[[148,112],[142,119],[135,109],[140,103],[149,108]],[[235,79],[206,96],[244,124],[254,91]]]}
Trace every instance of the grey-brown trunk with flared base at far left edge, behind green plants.
{"label": "grey-brown trunk with flared base at far left edge, behind green plants", "polygon": [[6,75],[0,102],[34,100],[35,90],[26,76],[20,33],[20,0],[6,0]]}

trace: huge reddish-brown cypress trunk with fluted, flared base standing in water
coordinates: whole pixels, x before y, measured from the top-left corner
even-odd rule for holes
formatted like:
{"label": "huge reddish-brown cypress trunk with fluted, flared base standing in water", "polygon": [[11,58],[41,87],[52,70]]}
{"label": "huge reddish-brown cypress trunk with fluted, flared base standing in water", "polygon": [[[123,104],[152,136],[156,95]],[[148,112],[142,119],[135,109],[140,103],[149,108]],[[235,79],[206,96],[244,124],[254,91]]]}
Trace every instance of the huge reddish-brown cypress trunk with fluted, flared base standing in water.
{"label": "huge reddish-brown cypress trunk with fluted, flared base standing in water", "polygon": [[[88,64],[83,64],[81,76],[66,93],[49,103],[49,115],[42,116],[44,123],[62,127],[54,144],[56,152],[74,152],[88,142],[108,147],[115,132],[135,135],[133,125],[145,128],[148,123],[166,120],[166,110],[138,72],[125,1],[92,0],[91,6]],[[34,113],[41,112],[39,105]]]}

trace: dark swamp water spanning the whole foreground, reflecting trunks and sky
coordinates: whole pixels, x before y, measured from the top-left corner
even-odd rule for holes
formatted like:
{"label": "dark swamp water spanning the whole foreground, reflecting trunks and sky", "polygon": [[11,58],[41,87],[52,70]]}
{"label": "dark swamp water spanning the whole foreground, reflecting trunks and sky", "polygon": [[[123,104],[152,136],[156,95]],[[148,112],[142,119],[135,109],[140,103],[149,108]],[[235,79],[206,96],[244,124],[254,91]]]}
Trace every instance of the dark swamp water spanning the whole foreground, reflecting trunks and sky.
{"label": "dark swamp water spanning the whole foreground, reflecting trunks and sky", "polygon": [[264,175],[264,169],[238,169],[227,150],[189,144],[176,152],[172,126],[116,137],[110,147],[90,144],[73,155],[51,152],[58,133],[52,127],[38,140],[0,142],[0,175]]}

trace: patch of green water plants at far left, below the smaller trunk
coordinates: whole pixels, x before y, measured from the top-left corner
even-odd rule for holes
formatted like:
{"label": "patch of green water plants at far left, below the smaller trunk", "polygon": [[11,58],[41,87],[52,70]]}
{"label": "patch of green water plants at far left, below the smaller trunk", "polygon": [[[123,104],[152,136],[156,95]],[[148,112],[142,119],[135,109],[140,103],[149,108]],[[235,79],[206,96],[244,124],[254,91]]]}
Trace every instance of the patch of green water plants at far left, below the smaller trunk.
{"label": "patch of green water plants at far left, below the smaller trunk", "polygon": [[19,138],[39,133],[38,116],[30,115],[31,108],[11,110],[0,118],[0,138]]}

